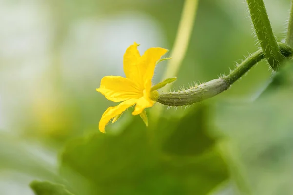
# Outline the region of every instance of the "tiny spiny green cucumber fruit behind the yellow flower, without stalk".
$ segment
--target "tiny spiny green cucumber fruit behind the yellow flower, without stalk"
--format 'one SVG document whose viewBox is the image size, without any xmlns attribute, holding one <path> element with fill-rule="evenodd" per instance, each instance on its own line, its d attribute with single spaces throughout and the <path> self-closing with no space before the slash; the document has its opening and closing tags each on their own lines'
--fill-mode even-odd
<svg viewBox="0 0 293 195">
<path fill-rule="evenodd" d="M 168 106 L 191 105 L 211 98 L 229 88 L 229 84 L 223 78 L 211 80 L 206 83 L 178 92 L 160 94 L 157 101 Z"/>
</svg>

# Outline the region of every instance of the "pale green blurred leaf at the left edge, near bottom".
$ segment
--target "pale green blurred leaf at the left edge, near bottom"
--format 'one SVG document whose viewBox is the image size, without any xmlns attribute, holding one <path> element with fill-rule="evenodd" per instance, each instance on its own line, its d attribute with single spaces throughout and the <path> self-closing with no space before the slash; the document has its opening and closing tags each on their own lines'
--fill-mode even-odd
<svg viewBox="0 0 293 195">
<path fill-rule="evenodd" d="M 49 151 L 40 145 L 29 144 L 24 139 L 0 134 L 0 171 L 16 170 L 42 179 L 61 180 L 56 167 L 48 159 L 54 161 Z"/>
</svg>

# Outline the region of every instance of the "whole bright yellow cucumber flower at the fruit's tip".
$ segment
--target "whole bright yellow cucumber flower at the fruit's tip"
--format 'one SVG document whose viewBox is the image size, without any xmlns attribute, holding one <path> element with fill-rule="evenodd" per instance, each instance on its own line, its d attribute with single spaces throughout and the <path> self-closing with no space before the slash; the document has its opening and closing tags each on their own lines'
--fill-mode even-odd
<svg viewBox="0 0 293 195">
<path fill-rule="evenodd" d="M 126 78 L 120 76 L 103 77 L 100 88 L 96 89 L 108 100 L 121 102 L 118 106 L 109 107 L 104 112 L 99 122 L 101 132 L 105 132 L 105 126 L 111 119 L 114 118 L 113 122 L 115 122 L 127 108 L 133 105 L 135 105 L 135 109 L 132 114 L 140 114 L 147 125 L 144 109 L 154 105 L 158 94 L 157 91 L 154 91 L 158 87 L 152 90 L 151 80 L 157 62 L 168 50 L 160 47 L 149 48 L 141 56 L 137 46 L 138 44 L 134 42 L 124 54 L 123 69 Z"/>
</svg>

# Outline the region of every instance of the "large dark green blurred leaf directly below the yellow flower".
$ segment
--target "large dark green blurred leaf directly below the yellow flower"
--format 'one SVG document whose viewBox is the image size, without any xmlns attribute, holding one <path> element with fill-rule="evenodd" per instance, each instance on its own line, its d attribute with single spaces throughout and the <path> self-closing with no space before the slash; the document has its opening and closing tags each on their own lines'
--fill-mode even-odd
<svg viewBox="0 0 293 195">
<path fill-rule="evenodd" d="M 199 109 L 187 119 L 203 112 Z M 151 134 L 168 130 L 147 129 L 139 117 L 133 117 L 133 122 L 119 135 L 96 133 L 73 140 L 61 155 L 61 174 L 75 182 L 68 174 L 73 171 L 92 183 L 95 187 L 92 194 L 104 195 L 205 195 L 227 179 L 225 162 L 217 149 L 210 147 L 214 143 L 212 139 L 204 137 L 200 150 L 205 148 L 205 152 L 196 149 L 201 147 L 200 143 L 191 145 L 197 150 L 193 156 L 162 154 L 162 147 L 152 139 L 156 135 Z"/>
</svg>

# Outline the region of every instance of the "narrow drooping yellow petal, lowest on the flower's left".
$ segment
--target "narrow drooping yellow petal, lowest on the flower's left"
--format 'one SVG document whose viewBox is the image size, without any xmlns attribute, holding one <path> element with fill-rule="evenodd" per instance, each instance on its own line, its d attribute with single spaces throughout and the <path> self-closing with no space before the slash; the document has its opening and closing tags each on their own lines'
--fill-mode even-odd
<svg viewBox="0 0 293 195">
<path fill-rule="evenodd" d="M 120 115 L 123 111 L 125 111 L 130 106 L 133 106 L 136 103 L 137 99 L 129 99 L 120 103 L 118 106 L 109 107 L 102 115 L 101 120 L 99 122 L 99 130 L 105 133 L 105 126 L 108 122 L 117 115 Z"/>
</svg>

